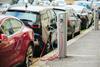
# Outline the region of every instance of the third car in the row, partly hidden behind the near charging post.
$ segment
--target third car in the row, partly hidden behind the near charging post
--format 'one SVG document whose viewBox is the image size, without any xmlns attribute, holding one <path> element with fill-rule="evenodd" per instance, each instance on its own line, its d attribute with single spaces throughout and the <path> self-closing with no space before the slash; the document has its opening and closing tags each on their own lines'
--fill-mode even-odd
<svg viewBox="0 0 100 67">
<path fill-rule="evenodd" d="M 67 36 L 68 38 L 73 38 L 75 34 L 80 34 L 80 22 L 81 20 L 75 16 L 75 11 L 72 8 L 67 8 L 67 6 L 55 6 L 54 11 L 57 14 L 57 18 L 60 13 L 66 12 L 68 15 L 67 21 Z"/>
</svg>

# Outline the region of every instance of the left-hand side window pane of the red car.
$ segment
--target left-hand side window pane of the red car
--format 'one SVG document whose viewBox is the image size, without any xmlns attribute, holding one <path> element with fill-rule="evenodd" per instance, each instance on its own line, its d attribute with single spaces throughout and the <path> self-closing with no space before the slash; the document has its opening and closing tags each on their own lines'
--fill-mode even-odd
<svg viewBox="0 0 100 67">
<path fill-rule="evenodd" d="M 5 20 L 4 23 L 1 25 L 1 28 L 7 36 L 14 33 L 10 19 Z"/>
</svg>

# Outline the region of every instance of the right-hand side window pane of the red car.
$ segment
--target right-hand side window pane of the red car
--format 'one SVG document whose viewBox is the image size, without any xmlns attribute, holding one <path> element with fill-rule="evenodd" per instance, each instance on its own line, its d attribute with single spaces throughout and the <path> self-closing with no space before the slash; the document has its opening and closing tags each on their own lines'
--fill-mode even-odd
<svg viewBox="0 0 100 67">
<path fill-rule="evenodd" d="M 17 19 L 11 19 L 11 24 L 14 32 L 19 31 L 22 27 L 22 23 Z"/>
</svg>

